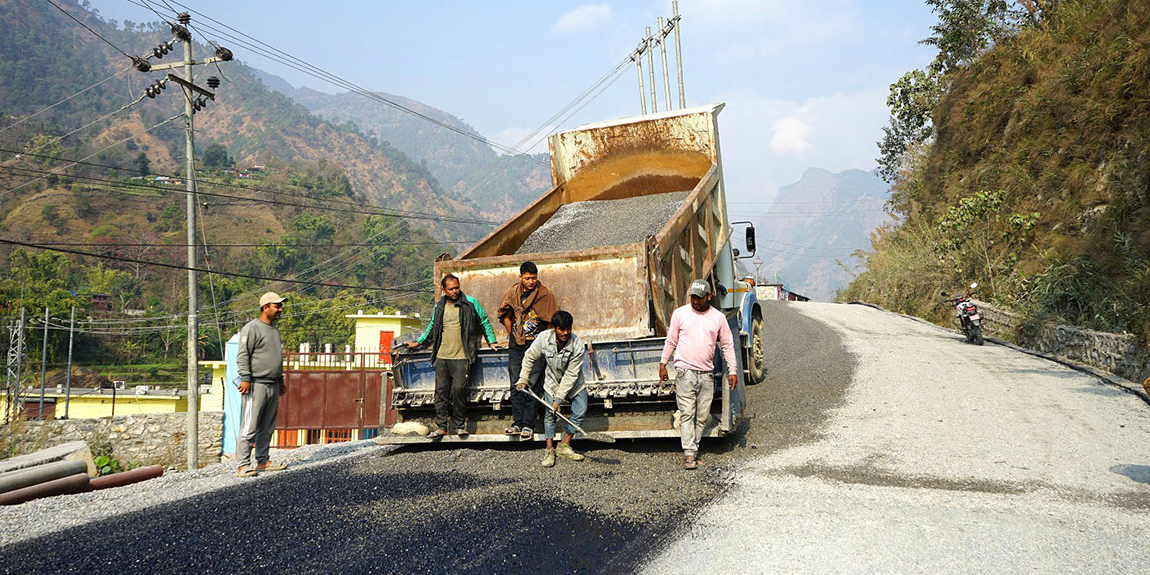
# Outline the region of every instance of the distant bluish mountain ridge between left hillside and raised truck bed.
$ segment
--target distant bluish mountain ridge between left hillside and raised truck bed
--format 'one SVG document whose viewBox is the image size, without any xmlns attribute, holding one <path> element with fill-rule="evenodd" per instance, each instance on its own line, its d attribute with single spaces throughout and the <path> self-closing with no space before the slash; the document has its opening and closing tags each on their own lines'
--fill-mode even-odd
<svg viewBox="0 0 1150 575">
<path fill-rule="evenodd" d="M 420 120 L 391 106 L 352 92 L 325 94 L 294 87 L 283 78 L 260 72 L 264 84 L 308 110 L 334 122 L 352 122 L 427 166 L 445 190 L 480 206 L 484 215 L 504 220 L 551 185 L 546 154 L 497 155 L 491 146 Z M 459 130 L 480 136 L 459 117 L 401 95 L 381 97 Z M 542 162 L 542 163 L 539 163 Z"/>
</svg>

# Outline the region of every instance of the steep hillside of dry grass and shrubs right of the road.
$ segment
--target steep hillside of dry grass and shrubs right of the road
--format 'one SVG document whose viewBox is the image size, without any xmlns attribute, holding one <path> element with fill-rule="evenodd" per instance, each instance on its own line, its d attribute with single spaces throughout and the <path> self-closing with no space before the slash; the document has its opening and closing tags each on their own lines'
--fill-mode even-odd
<svg viewBox="0 0 1150 575">
<path fill-rule="evenodd" d="M 1150 5 L 1042 5 L 958 60 L 903 159 L 867 271 L 844 298 L 938 317 L 937 293 L 1145 336 L 1150 327 Z M 894 124 L 894 121 L 892 121 Z"/>
</svg>

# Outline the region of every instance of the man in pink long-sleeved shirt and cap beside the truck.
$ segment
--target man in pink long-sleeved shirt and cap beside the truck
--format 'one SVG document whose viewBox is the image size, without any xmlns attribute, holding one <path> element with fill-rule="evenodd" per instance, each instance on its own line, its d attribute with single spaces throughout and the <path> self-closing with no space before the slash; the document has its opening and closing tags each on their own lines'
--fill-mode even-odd
<svg viewBox="0 0 1150 575">
<path fill-rule="evenodd" d="M 675 402 L 678 405 L 678 431 L 683 445 L 683 468 L 699 466 L 699 439 L 711 415 L 715 384 L 715 342 L 722 347 L 727 362 L 728 383 L 735 389 L 735 340 L 722 312 L 711 307 L 711 284 L 705 279 L 691 282 L 688 291 L 691 304 L 675 308 L 667 327 L 667 343 L 659 361 L 659 378 L 667 381 L 667 361 L 675 354 Z"/>
</svg>

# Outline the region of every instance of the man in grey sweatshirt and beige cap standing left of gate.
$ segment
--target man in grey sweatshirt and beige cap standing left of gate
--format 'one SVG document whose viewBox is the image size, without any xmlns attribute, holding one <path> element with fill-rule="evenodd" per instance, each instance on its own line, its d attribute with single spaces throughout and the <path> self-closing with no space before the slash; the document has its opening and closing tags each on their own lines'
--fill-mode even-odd
<svg viewBox="0 0 1150 575">
<path fill-rule="evenodd" d="M 279 412 L 279 394 L 284 389 L 284 346 L 276 321 L 283 313 L 284 300 L 268 292 L 260 298 L 260 317 L 239 330 L 239 431 L 236 434 L 236 475 L 251 477 L 258 471 L 278 471 L 288 466 L 268 459 L 271 432 Z M 252 467 L 252 450 L 255 467 Z"/>
</svg>

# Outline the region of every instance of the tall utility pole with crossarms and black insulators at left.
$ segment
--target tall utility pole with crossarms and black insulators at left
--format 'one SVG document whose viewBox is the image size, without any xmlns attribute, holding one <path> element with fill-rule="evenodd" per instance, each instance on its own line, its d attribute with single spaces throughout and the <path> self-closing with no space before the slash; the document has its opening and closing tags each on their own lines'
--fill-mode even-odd
<svg viewBox="0 0 1150 575">
<path fill-rule="evenodd" d="M 192 17 L 185 12 L 181 13 L 176 20 L 178 24 L 171 25 L 171 33 L 184 45 L 184 61 L 168 64 L 150 67 L 151 70 L 176 70 L 183 68 L 183 77 L 168 74 L 168 80 L 175 82 L 183 87 L 184 92 L 184 153 L 186 158 L 184 184 L 187 191 L 187 468 L 198 469 L 200 467 L 199 444 L 200 444 L 200 382 L 199 382 L 199 305 L 195 293 L 195 131 L 193 117 L 195 113 L 207 106 L 207 100 L 215 100 L 215 93 L 195 85 L 195 77 L 192 74 L 193 66 L 213 62 L 227 62 L 232 59 L 232 53 L 228 48 L 216 47 L 215 57 L 197 61 L 192 57 L 192 34 L 187 31 L 187 24 Z M 215 89 L 220 85 L 220 79 L 210 77 L 207 79 L 208 87 Z M 199 95 L 197 95 L 199 94 Z"/>
</svg>

